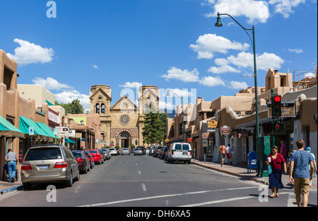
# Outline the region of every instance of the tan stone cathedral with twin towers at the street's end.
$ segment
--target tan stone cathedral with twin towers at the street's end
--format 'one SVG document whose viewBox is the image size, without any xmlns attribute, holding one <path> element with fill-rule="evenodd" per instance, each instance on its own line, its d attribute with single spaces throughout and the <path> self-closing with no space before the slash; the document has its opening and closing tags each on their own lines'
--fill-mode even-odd
<svg viewBox="0 0 318 221">
<path fill-rule="evenodd" d="M 100 115 L 100 143 L 110 146 L 130 147 L 143 145 L 143 117 L 150 103 L 159 108 L 157 86 L 140 86 L 137 94 L 139 106 L 122 96 L 111 106 L 112 89 L 108 85 L 93 85 L 90 89 L 90 113 Z M 135 98 L 136 99 L 136 98 Z"/>
</svg>

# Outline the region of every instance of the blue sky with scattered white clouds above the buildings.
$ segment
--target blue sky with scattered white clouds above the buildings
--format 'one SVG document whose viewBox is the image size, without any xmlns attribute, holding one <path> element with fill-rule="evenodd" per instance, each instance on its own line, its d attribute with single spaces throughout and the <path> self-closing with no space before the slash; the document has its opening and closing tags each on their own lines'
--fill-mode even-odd
<svg viewBox="0 0 318 221">
<path fill-rule="evenodd" d="M 155 85 L 167 108 L 180 103 L 167 89 L 195 103 L 254 86 L 245 77 L 254 74 L 252 42 L 227 16 L 215 27 L 218 11 L 254 25 L 258 86 L 270 68 L 302 72 L 317 62 L 316 0 L 56 0 L 56 18 L 47 2 L 1 1 L 0 49 L 17 60 L 18 84 L 42 84 L 84 108 L 95 84 L 110 85 L 112 104 Z"/>
</svg>

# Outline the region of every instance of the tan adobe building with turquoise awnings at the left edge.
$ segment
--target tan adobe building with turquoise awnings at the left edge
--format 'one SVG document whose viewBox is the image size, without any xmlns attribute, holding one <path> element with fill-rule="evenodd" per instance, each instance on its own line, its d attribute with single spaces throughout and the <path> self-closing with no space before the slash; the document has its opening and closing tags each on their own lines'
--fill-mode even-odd
<svg viewBox="0 0 318 221">
<path fill-rule="evenodd" d="M 53 141 L 48 125 L 48 105 L 35 109 L 33 98 L 19 95 L 17 87 L 17 63 L 0 49 L 0 171 L 8 149 L 17 155 L 25 154 L 31 147 L 29 127 L 34 128 L 33 145 Z M 52 132 L 52 131 L 51 131 Z M 53 133 L 53 132 L 52 132 Z M 0 175 L 0 176 L 1 176 Z"/>
</svg>

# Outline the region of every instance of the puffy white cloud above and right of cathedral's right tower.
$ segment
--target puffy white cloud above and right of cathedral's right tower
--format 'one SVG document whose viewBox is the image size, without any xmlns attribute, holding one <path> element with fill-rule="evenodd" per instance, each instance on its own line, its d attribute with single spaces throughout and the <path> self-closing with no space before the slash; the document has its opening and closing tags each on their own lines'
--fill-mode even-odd
<svg viewBox="0 0 318 221">
<path fill-rule="evenodd" d="M 167 81 L 169 79 L 177 79 L 184 82 L 196 82 L 199 80 L 199 72 L 195 68 L 191 72 L 187 69 L 178 69 L 176 67 L 171 67 L 167 74 L 162 74 L 160 77 L 165 78 Z"/>
</svg>

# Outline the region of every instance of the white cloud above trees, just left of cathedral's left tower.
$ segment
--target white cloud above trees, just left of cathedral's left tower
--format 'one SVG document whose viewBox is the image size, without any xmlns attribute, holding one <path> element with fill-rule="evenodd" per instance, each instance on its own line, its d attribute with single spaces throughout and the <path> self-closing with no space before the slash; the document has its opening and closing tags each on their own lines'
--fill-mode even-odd
<svg viewBox="0 0 318 221">
<path fill-rule="evenodd" d="M 55 100 L 59 103 L 71 103 L 78 99 L 86 111 L 90 111 L 90 98 L 86 94 L 80 94 L 78 91 L 63 91 L 59 94 L 54 94 Z"/>
</svg>

